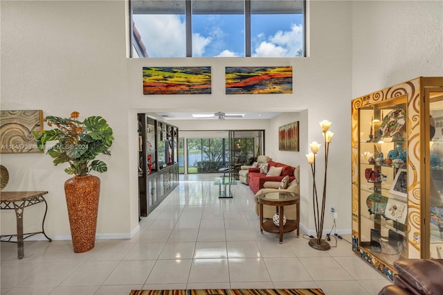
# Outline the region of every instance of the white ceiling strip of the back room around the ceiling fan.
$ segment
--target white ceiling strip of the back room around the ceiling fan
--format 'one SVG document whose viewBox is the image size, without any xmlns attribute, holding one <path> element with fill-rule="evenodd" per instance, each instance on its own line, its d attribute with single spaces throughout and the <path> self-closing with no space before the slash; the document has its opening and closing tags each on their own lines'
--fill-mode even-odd
<svg viewBox="0 0 443 295">
<path fill-rule="evenodd" d="M 221 110 L 222 111 L 222 110 Z M 217 117 L 212 118 L 194 118 L 192 117 L 192 114 L 208 114 L 213 115 L 217 111 L 195 111 L 195 112 L 175 112 L 175 111 L 161 111 L 157 112 L 156 114 L 159 116 L 162 116 L 165 119 L 168 120 L 217 120 Z M 281 114 L 281 112 L 270 112 L 270 111 L 263 111 L 263 112 L 244 112 L 244 111 L 226 111 L 226 115 L 228 114 L 244 114 L 243 118 L 225 118 L 225 120 L 266 120 L 271 119 L 275 116 L 278 116 Z"/>
</svg>

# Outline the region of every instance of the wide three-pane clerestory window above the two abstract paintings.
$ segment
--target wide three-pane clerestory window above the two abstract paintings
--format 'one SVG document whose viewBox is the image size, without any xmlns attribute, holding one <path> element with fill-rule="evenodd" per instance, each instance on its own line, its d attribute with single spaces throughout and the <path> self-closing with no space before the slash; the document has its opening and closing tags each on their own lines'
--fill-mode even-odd
<svg viewBox="0 0 443 295">
<path fill-rule="evenodd" d="M 132 0 L 132 57 L 303 57 L 304 0 Z"/>
</svg>

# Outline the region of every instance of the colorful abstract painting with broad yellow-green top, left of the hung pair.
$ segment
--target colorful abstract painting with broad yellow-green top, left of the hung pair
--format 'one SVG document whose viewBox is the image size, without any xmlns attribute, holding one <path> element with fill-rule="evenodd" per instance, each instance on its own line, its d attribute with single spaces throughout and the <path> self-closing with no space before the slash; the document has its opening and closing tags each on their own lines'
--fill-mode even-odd
<svg viewBox="0 0 443 295">
<path fill-rule="evenodd" d="M 143 67 L 143 94 L 210 94 L 210 66 Z"/>
</svg>

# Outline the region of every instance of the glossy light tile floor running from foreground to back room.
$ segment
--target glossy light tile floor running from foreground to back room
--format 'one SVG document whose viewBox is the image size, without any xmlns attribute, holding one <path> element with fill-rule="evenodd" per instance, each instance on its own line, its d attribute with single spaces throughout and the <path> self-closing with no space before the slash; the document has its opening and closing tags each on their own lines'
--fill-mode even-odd
<svg viewBox="0 0 443 295">
<path fill-rule="evenodd" d="M 1 294 L 320 287 L 356 295 L 390 284 L 352 252 L 349 236 L 318 251 L 295 232 L 284 234 L 283 244 L 260 233 L 248 186 L 239 183 L 233 199 L 219 199 L 215 176 L 181 175 L 130 240 L 97 240 L 86 253 L 73 253 L 71 241 L 27 241 L 21 260 L 16 244 L 1 243 Z"/>
</svg>

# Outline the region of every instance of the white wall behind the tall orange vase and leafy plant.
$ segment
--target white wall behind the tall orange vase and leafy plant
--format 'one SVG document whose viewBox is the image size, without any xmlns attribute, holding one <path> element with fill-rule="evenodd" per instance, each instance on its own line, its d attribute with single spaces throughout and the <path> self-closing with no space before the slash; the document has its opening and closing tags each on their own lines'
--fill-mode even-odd
<svg viewBox="0 0 443 295">
<path fill-rule="evenodd" d="M 97 233 L 125 237 L 129 224 L 129 154 L 127 59 L 123 1 L 1 1 L 1 109 L 42 109 L 44 116 L 80 118 L 100 115 L 109 121 L 116 140 L 111 157 L 101 159 L 109 172 L 100 174 Z M 47 126 L 45 126 L 47 128 Z M 134 129 L 136 125 L 134 126 Z M 134 148 L 132 149 L 134 150 Z M 64 199 L 66 164 L 53 166 L 44 154 L 1 154 L 10 172 L 5 190 L 48 190 L 46 232 L 70 238 Z M 26 208 L 25 230 L 36 231 L 34 215 L 43 204 Z M 1 233 L 15 233 L 15 216 L 1 212 Z"/>
</svg>

